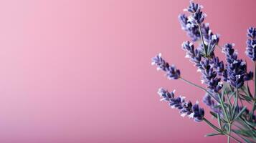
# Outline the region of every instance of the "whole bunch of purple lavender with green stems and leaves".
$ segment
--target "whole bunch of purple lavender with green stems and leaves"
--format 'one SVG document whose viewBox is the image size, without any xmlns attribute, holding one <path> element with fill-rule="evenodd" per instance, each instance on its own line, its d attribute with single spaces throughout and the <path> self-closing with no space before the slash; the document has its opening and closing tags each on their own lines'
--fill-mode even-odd
<svg viewBox="0 0 256 143">
<path fill-rule="evenodd" d="M 219 35 L 212 33 L 209 24 L 204 23 L 206 14 L 202 12 L 202 6 L 190 2 L 184 9 L 186 14 L 179 15 L 181 28 L 186 31 L 191 41 L 184 41 L 181 48 L 186 51 L 186 58 L 197 67 L 202 74 L 202 84 L 196 85 L 181 76 L 176 66 L 166 62 L 161 54 L 152 58 L 152 64 L 157 70 L 166 72 L 169 79 L 180 79 L 205 92 L 203 102 L 206 104 L 218 126 L 215 126 L 204 117 L 204 109 L 199 103 L 186 102 L 184 97 L 175 97 L 174 92 L 167 89 L 158 89 L 161 101 L 169 103 L 171 108 L 179 109 L 181 117 L 189 117 L 195 122 L 206 122 L 214 133 L 209 136 L 225 135 L 227 142 L 234 139 L 236 142 L 256 142 L 256 80 L 255 72 L 247 71 L 247 63 L 237 56 L 234 44 L 219 46 Z M 199 41 L 196 46 L 194 42 Z M 256 29 L 250 27 L 247 30 L 247 48 L 245 54 L 253 61 L 256 71 Z M 219 49 L 224 53 L 226 61 L 221 61 L 214 54 Z M 254 77 L 254 80 L 253 80 Z M 248 82 L 254 81 L 254 94 L 250 92 Z M 244 106 L 252 105 L 251 108 Z"/>
</svg>

